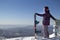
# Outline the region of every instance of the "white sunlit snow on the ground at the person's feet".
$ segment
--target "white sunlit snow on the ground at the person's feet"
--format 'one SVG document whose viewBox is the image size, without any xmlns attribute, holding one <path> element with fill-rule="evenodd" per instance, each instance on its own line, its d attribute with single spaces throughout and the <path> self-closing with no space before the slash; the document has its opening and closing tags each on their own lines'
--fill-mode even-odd
<svg viewBox="0 0 60 40">
<path fill-rule="evenodd" d="M 55 37 L 55 34 L 53 33 L 53 34 L 49 35 L 49 39 L 47 39 L 47 38 L 43 39 L 42 36 L 35 39 L 34 36 L 31 36 L 31 37 L 9 38 L 9 39 L 5 39 L 5 40 L 60 40 L 60 37 Z"/>
</svg>

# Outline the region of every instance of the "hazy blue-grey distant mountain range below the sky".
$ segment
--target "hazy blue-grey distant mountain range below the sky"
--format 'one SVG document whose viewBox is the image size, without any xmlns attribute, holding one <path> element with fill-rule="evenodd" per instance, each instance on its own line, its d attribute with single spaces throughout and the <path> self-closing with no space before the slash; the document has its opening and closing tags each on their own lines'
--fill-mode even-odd
<svg viewBox="0 0 60 40">
<path fill-rule="evenodd" d="M 0 25 L 3 27 L 4 25 Z M 9 28 L 5 28 L 5 27 Z M 5 29 L 4 29 L 5 28 Z M 34 26 L 27 25 L 27 26 L 20 26 L 20 25 L 5 25 L 3 29 L 0 29 L 0 36 L 6 38 L 13 38 L 13 37 L 24 37 L 24 36 L 34 36 Z M 40 36 L 42 36 L 42 26 L 37 26 L 37 30 L 40 30 Z M 49 26 L 49 33 L 53 33 L 53 26 Z"/>
</svg>

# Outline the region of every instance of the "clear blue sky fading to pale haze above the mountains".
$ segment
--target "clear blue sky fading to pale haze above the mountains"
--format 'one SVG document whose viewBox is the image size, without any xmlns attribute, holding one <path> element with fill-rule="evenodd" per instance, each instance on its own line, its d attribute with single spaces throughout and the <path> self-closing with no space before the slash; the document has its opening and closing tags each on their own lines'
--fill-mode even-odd
<svg viewBox="0 0 60 40">
<path fill-rule="evenodd" d="M 0 24 L 33 25 L 34 13 L 44 13 L 44 6 L 60 19 L 60 0 L 0 0 Z"/>
</svg>

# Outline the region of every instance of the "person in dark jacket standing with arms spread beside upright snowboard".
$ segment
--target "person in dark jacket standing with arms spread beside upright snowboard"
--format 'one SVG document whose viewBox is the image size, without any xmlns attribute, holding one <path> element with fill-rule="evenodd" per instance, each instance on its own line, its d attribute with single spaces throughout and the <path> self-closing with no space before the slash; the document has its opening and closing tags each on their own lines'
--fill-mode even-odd
<svg viewBox="0 0 60 40">
<path fill-rule="evenodd" d="M 35 15 L 43 17 L 43 30 L 45 35 L 44 37 L 49 38 L 48 26 L 50 25 L 50 18 L 52 18 L 53 20 L 56 20 L 56 19 L 50 14 L 48 6 L 44 7 L 44 11 L 45 11 L 44 14 L 35 13 Z"/>
</svg>

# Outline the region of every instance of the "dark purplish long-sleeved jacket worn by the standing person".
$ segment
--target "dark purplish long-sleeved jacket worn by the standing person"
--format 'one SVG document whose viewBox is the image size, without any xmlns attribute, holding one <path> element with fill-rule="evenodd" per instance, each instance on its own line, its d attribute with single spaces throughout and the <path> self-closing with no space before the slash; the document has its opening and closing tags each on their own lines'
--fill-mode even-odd
<svg viewBox="0 0 60 40">
<path fill-rule="evenodd" d="M 50 13 L 37 14 L 37 15 L 43 17 L 43 25 L 50 25 L 50 18 L 52 18 L 53 20 L 56 20 Z"/>
</svg>

